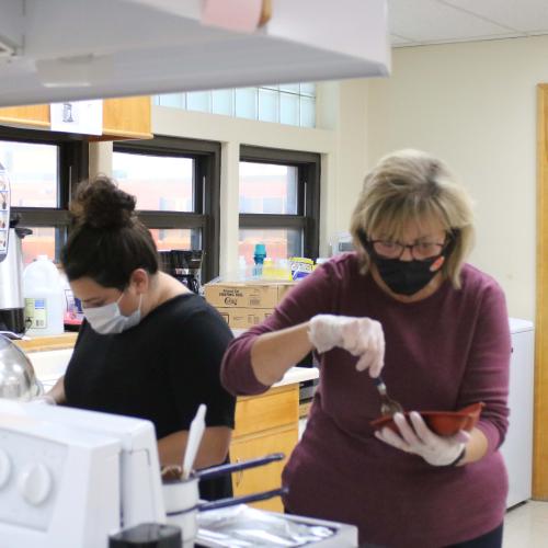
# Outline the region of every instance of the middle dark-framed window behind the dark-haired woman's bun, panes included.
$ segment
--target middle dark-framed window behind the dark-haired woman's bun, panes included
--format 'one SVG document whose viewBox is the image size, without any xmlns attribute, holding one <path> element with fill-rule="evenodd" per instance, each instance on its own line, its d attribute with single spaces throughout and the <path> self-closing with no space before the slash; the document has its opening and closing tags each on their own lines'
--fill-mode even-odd
<svg viewBox="0 0 548 548">
<path fill-rule="evenodd" d="M 155 137 L 115 142 L 113 176 L 137 199 L 159 250 L 202 249 L 202 281 L 219 272 L 220 146 Z"/>
</svg>

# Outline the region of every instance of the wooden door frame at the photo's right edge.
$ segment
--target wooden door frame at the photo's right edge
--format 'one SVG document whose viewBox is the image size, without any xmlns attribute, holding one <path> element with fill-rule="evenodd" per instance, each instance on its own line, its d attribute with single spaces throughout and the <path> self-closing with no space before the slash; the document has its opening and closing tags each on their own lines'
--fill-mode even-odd
<svg viewBox="0 0 548 548">
<path fill-rule="evenodd" d="M 533 498 L 548 500 L 548 84 L 537 85 L 537 266 Z"/>
</svg>

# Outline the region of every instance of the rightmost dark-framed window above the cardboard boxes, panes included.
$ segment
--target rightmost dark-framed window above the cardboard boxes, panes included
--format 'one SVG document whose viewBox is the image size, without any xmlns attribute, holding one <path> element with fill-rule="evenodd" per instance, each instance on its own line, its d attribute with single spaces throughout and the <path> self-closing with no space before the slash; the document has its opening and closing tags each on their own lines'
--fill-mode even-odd
<svg viewBox="0 0 548 548">
<path fill-rule="evenodd" d="M 238 252 L 253 264 L 256 243 L 273 260 L 318 256 L 320 156 L 243 146 Z"/>
</svg>

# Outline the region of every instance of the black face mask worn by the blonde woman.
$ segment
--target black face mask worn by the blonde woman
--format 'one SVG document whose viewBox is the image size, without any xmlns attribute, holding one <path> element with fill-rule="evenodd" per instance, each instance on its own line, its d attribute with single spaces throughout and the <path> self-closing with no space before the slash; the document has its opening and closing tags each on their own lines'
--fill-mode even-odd
<svg viewBox="0 0 548 548">
<path fill-rule="evenodd" d="M 455 239 L 449 240 L 442 254 L 424 261 L 400 261 L 399 259 L 386 259 L 378 255 L 364 232 L 359 233 L 359 240 L 369 253 L 373 263 L 383 282 L 397 295 L 414 295 L 426 287 L 432 278 L 439 272 L 439 269 L 432 272 L 431 266 L 439 259 L 447 258 L 452 252 Z"/>
</svg>

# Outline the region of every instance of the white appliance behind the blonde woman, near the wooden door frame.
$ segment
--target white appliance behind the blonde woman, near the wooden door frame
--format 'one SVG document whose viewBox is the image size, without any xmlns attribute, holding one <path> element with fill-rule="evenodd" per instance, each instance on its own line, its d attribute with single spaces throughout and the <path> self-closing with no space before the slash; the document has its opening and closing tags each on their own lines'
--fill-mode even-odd
<svg viewBox="0 0 548 548">
<path fill-rule="evenodd" d="M 501 453 L 509 472 L 506 507 L 532 496 L 535 330 L 530 321 L 510 318 L 510 425 Z"/>
</svg>

